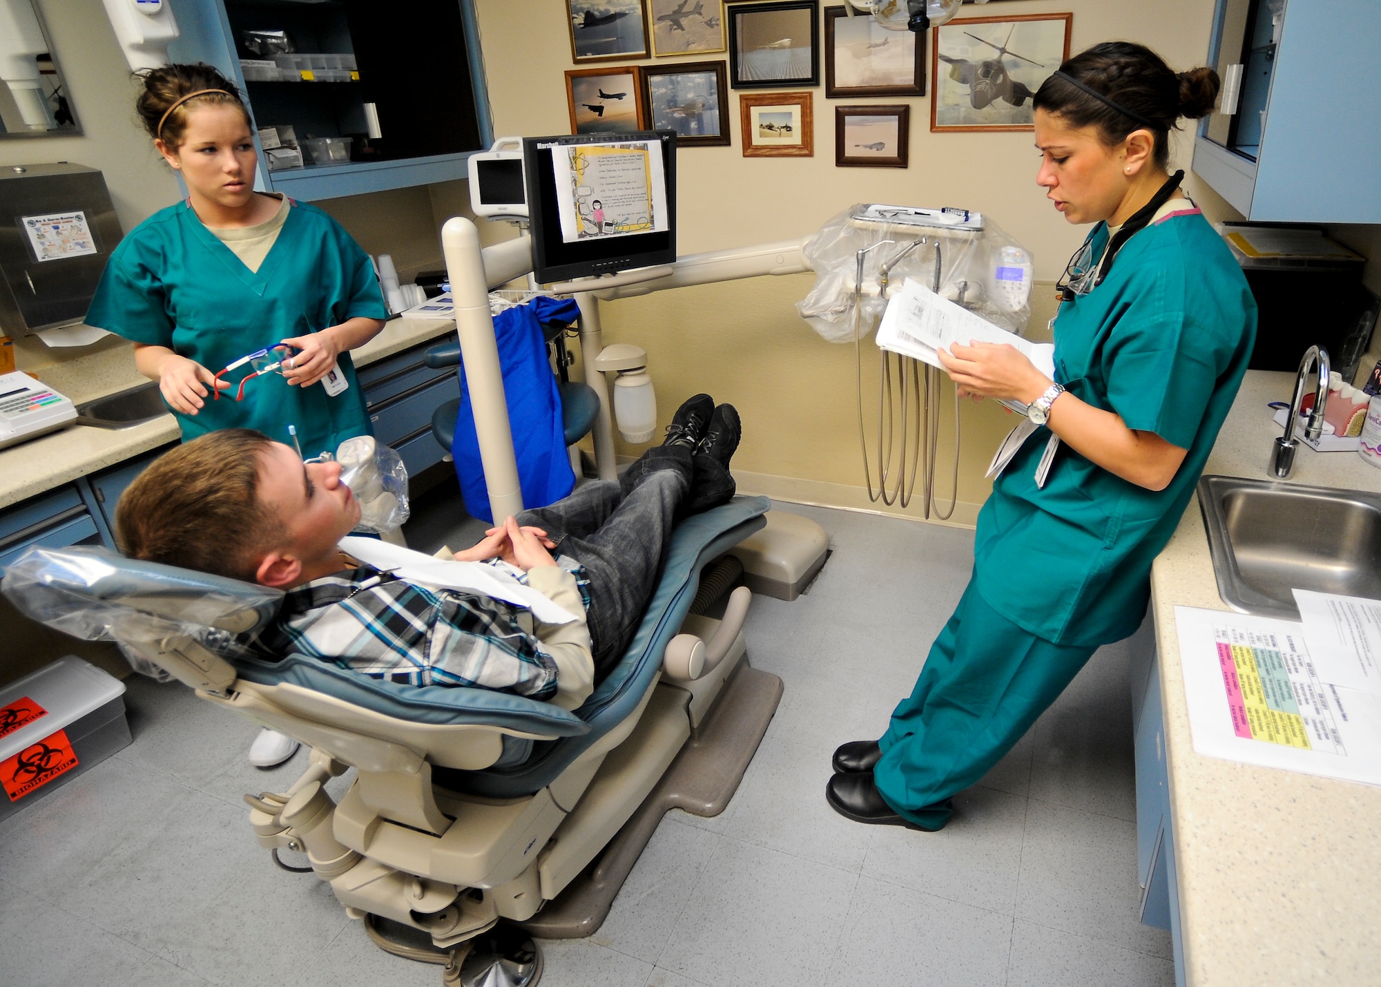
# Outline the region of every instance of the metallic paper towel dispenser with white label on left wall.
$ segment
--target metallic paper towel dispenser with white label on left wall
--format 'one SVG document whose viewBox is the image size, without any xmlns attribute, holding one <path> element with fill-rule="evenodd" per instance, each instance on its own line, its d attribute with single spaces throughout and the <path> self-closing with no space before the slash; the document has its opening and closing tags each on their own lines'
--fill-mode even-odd
<svg viewBox="0 0 1381 987">
<path fill-rule="evenodd" d="M 123 235 L 98 170 L 0 167 L 0 335 L 28 336 L 86 318 Z"/>
</svg>

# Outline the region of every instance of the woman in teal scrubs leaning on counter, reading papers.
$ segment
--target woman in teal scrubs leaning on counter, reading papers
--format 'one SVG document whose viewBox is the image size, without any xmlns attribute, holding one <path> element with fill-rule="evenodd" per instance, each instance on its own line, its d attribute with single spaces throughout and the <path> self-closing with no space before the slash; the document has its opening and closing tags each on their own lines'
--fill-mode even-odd
<svg viewBox="0 0 1381 987">
<path fill-rule="evenodd" d="M 1170 130 L 1217 93 L 1211 69 L 1108 43 L 1036 94 L 1037 184 L 1095 224 L 1062 285 L 1055 380 L 1010 346 L 940 354 L 961 394 L 1021 401 L 1036 427 L 979 513 L 972 578 L 911 695 L 878 741 L 836 751 L 826 798 L 848 818 L 939 829 L 952 796 L 1141 623 L 1255 339 L 1240 268 L 1167 169 Z"/>
</svg>

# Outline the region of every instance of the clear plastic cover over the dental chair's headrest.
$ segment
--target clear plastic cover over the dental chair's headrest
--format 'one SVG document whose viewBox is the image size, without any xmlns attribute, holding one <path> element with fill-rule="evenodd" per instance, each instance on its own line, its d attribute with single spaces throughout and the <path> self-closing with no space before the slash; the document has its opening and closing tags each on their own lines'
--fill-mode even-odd
<svg viewBox="0 0 1381 987">
<path fill-rule="evenodd" d="M 131 570 L 171 579 L 177 590 L 131 594 Z M 213 654 L 249 654 L 243 636 L 273 619 L 283 601 L 278 589 L 84 546 L 29 549 L 6 567 L 0 592 L 39 623 L 88 641 L 116 641 L 135 672 L 159 682 L 171 676 L 130 644 L 191 637 Z"/>
</svg>

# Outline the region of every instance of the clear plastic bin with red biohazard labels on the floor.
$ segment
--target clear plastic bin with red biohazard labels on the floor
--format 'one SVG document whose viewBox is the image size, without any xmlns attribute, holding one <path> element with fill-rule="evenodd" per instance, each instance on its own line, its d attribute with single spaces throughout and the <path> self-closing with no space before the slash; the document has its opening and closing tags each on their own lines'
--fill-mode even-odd
<svg viewBox="0 0 1381 987">
<path fill-rule="evenodd" d="M 80 658 L 0 688 L 0 820 L 128 742 L 124 683 Z"/>
</svg>

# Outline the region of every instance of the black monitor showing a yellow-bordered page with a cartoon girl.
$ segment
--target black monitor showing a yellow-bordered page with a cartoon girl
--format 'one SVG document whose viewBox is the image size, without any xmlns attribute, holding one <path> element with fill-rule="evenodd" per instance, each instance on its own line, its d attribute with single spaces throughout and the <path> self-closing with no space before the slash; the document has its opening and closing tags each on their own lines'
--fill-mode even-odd
<svg viewBox="0 0 1381 987">
<path fill-rule="evenodd" d="M 673 131 L 529 137 L 523 178 L 539 282 L 677 258 Z"/>
</svg>

